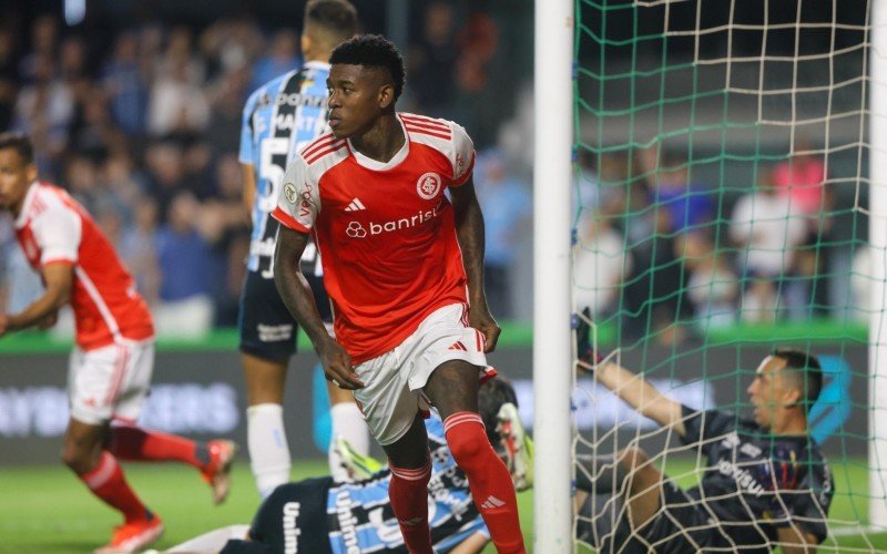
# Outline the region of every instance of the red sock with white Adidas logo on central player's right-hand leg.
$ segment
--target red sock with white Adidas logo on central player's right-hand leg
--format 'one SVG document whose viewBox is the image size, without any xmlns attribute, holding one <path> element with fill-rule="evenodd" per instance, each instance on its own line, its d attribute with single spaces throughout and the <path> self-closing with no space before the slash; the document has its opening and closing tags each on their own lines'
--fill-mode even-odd
<svg viewBox="0 0 887 554">
<path fill-rule="evenodd" d="M 452 458 L 468 476 L 468 486 L 500 553 L 523 553 L 518 501 L 506 464 L 496 454 L 475 412 L 456 412 L 443 422 Z"/>
</svg>

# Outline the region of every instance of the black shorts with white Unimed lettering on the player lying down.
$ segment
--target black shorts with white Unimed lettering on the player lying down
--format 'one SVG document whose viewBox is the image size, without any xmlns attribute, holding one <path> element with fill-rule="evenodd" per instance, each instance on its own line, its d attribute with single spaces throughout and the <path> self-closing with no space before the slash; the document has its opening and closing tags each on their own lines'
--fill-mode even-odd
<svg viewBox="0 0 887 554">
<path fill-rule="evenodd" d="M 295 552 L 333 554 L 326 514 L 332 485 L 332 478 L 315 478 L 278 486 L 258 507 L 249 536 L 271 552 L 295 541 Z"/>
</svg>

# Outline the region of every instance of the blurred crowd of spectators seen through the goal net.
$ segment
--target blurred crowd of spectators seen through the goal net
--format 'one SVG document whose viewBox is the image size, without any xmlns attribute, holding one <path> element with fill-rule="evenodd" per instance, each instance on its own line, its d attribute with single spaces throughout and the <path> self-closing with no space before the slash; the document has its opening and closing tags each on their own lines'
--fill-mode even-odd
<svg viewBox="0 0 887 554">
<path fill-rule="evenodd" d="M 594 320 L 674 343 L 832 314 L 827 281 L 850 267 L 833 259 L 834 192 L 806 138 L 784 161 L 755 165 L 756 182 L 735 194 L 700 181 L 683 152 L 580 154 L 573 283 Z M 847 246 L 865 280 L 867 249 Z M 865 284 L 852 285 L 865 306 Z"/>
</svg>

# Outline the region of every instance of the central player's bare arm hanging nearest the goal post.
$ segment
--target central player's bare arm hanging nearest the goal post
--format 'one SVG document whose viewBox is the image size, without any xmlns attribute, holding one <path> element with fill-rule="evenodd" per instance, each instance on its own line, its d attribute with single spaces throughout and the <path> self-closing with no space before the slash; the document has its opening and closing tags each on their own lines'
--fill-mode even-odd
<svg viewBox="0 0 887 554">
<path fill-rule="evenodd" d="M 501 329 L 490 314 L 483 291 L 483 213 L 475 194 L 473 179 L 469 177 L 465 184 L 450 187 L 450 197 L 456 216 L 456 237 L 468 277 L 468 318 L 471 327 L 483 334 L 483 351 L 491 352 Z"/>
</svg>

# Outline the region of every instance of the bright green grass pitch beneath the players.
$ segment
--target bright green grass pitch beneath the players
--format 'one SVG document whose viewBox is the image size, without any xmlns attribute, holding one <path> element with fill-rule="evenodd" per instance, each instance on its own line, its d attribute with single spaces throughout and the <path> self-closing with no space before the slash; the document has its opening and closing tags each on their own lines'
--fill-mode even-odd
<svg viewBox="0 0 887 554">
<path fill-rule="evenodd" d="M 176 464 L 124 465 L 126 476 L 145 503 L 159 513 L 166 533 L 155 544 L 170 547 L 206 531 L 248 523 L 258 497 L 248 464 L 239 461 L 228 501 L 213 506 L 210 490 L 196 471 Z M 670 461 L 674 475 L 691 473 L 683 461 Z M 830 516 L 838 521 L 867 517 L 867 473 L 861 462 L 833 465 L 837 492 Z M 293 476 L 322 475 L 325 462 L 298 462 Z M 692 476 L 681 479 L 684 484 Z M 532 493 L 518 497 L 527 544 L 532 544 Z M 93 499 L 70 472 L 59 465 L 0 468 L 0 553 L 86 553 L 104 544 L 118 515 Z M 887 550 L 887 534 L 842 536 L 823 551 Z M 495 552 L 488 547 L 485 553 Z"/>
</svg>

